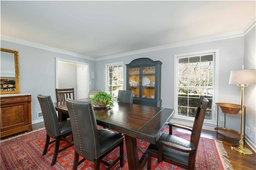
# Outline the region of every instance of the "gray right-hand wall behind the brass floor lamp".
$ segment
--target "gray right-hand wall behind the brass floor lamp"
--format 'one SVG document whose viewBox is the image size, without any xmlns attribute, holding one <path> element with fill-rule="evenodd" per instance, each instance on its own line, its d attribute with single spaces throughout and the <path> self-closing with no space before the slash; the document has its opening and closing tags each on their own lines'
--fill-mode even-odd
<svg viewBox="0 0 256 170">
<path fill-rule="evenodd" d="M 255 54 L 255 26 L 244 37 L 244 69 L 256 69 L 256 54 Z M 236 92 L 237 95 L 240 91 Z M 256 85 L 249 85 L 244 88 L 244 105 L 246 106 L 246 126 L 251 129 L 251 132 L 255 131 L 256 127 Z M 256 131 L 255 131 L 256 133 Z M 251 141 L 256 144 L 256 134 L 251 134 Z"/>
</svg>

